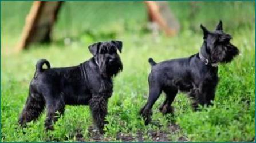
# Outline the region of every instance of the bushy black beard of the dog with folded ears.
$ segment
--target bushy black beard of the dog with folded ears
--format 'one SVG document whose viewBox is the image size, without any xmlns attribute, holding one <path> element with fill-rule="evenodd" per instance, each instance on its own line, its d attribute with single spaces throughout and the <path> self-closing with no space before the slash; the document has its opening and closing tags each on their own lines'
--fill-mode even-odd
<svg viewBox="0 0 256 143">
<path fill-rule="evenodd" d="M 116 60 L 113 63 L 101 62 L 99 63 L 100 73 L 104 77 L 115 77 L 121 70 L 123 70 L 123 65 L 120 60 Z"/>
</svg>

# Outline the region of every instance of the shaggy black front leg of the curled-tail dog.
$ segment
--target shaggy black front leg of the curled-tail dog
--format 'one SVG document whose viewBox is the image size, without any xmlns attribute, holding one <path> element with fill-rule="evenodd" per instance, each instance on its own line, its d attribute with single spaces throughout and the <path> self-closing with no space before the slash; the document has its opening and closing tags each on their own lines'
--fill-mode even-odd
<svg viewBox="0 0 256 143">
<path fill-rule="evenodd" d="M 90 110 L 94 122 L 100 130 L 100 133 L 103 133 L 105 116 L 107 115 L 107 99 L 104 96 L 94 95 L 89 101 Z"/>
</svg>

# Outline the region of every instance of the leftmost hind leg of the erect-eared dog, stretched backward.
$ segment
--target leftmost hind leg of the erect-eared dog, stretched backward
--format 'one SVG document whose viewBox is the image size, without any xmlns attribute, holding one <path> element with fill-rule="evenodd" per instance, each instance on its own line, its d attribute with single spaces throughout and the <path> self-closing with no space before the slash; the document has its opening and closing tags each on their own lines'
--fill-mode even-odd
<svg viewBox="0 0 256 143">
<path fill-rule="evenodd" d="M 151 121 L 152 115 L 152 106 L 155 104 L 156 100 L 159 98 L 162 89 L 159 85 L 152 85 L 149 89 L 149 97 L 147 104 L 140 110 L 141 116 L 143 116 L 145 120 L 145 125 L 147 125 Z"/>
</svg>

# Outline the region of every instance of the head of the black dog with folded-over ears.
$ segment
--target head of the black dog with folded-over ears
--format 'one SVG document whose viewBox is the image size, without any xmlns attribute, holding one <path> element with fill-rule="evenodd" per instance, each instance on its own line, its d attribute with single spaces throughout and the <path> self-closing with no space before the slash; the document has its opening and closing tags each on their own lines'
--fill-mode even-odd
<svg viewBox="0 0 256 143">
<path fill-rule="evenodd" d="M 89 46 L 89 51 L 92 53 L 103 76 L 113 77 L 123 70 L 117 50 L 121 53 L 121 41 L 98 42 Z"/>
</svg>

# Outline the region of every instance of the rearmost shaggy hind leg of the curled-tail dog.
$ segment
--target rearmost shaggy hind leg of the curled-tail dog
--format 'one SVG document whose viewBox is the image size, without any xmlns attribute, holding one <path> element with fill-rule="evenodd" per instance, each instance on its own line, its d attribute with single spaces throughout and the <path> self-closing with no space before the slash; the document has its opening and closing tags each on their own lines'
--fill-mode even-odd
<svg viewBox="0 0 256 143">
<path fill-rule="evenodd" d="M 25 126 L 27 122 L 37 120 L 45 107 L 44 98 L 37 93 L 29 91 L 29 97 L 27 98 L 25 107 L 19 117 L 19 124 Z"/>
</svg>

